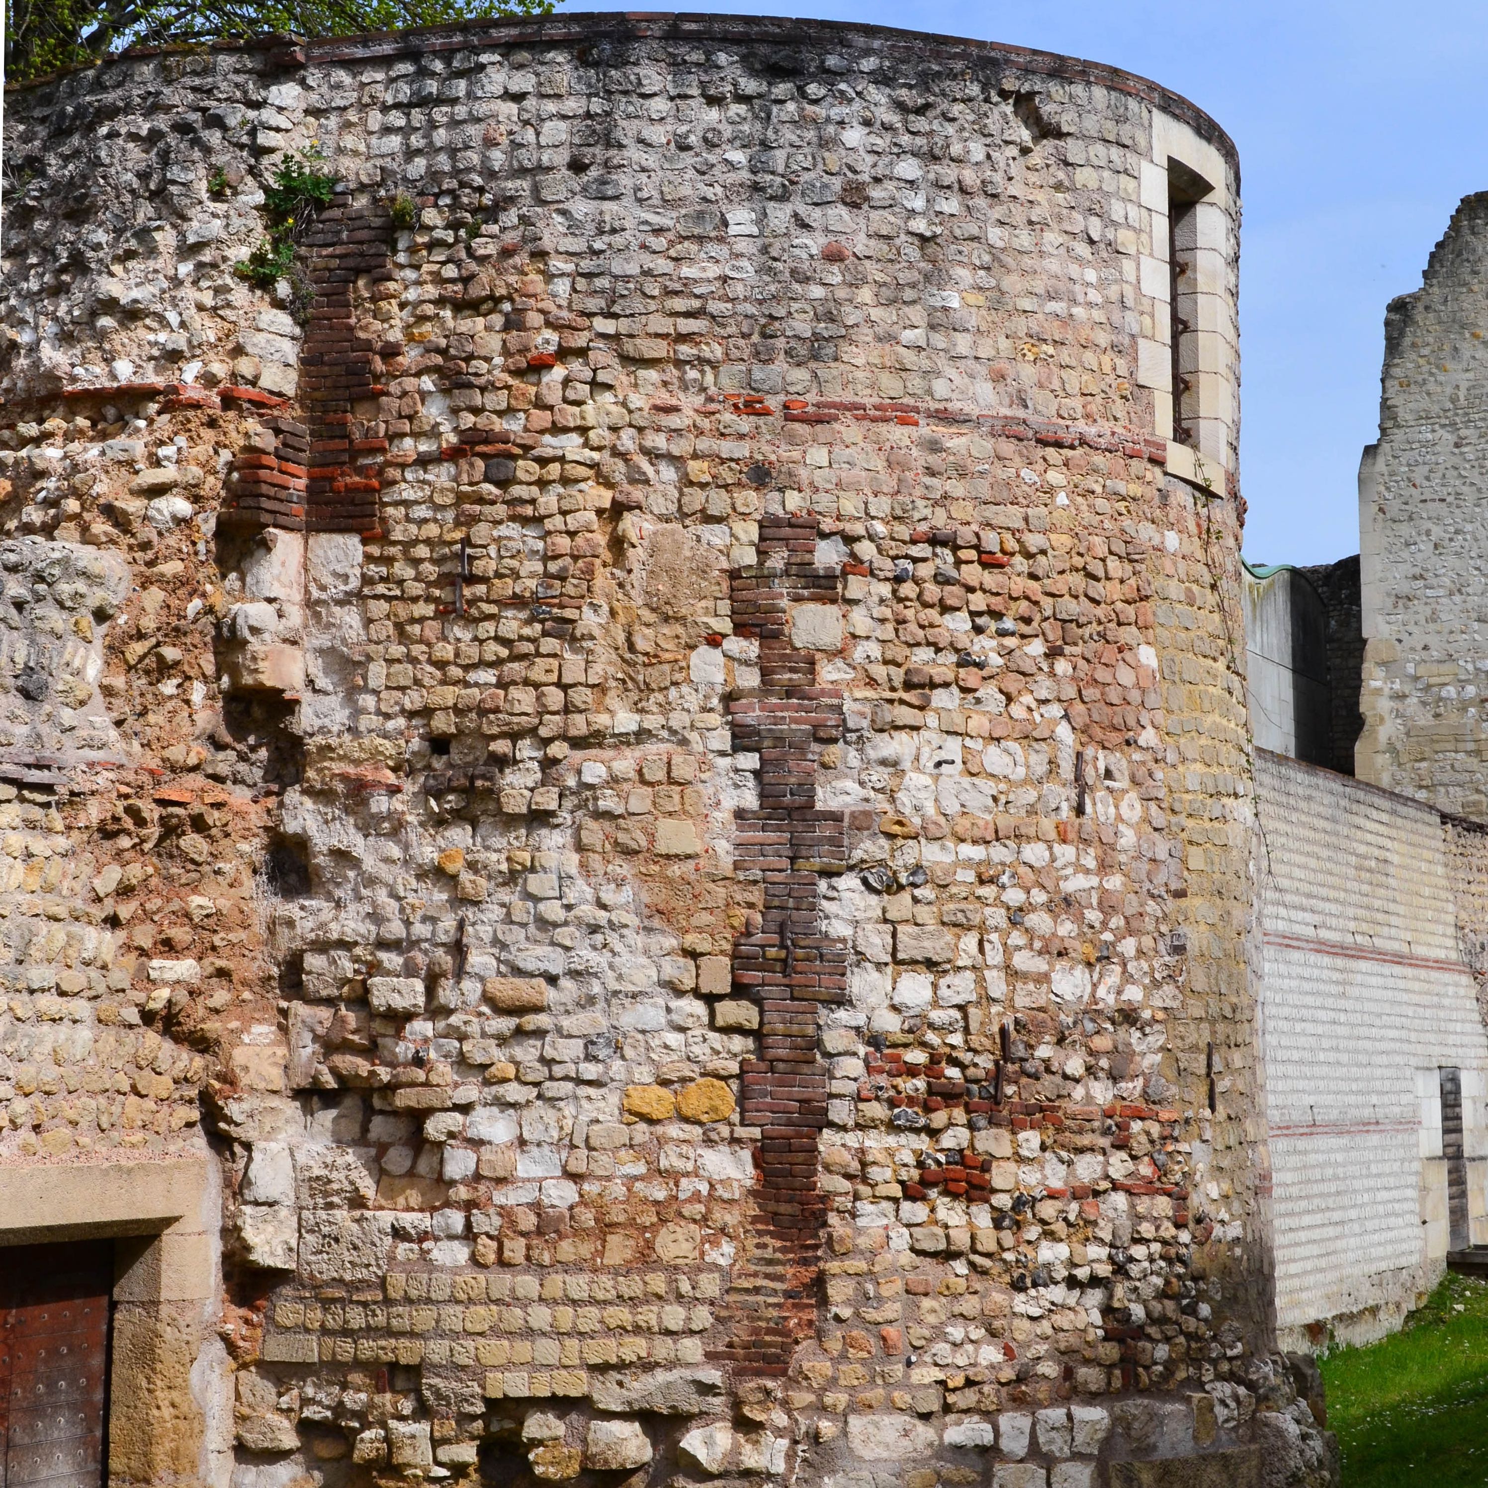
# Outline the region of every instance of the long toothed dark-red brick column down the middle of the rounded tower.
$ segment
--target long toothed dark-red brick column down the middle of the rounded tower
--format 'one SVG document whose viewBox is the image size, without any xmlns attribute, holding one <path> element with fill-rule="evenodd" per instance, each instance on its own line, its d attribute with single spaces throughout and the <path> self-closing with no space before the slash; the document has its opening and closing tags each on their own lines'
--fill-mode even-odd
<svg viewBox="0 0 1488 1488">
<path fill-rule="evenodd" d="M 821 933 L 818 908 L 818 876 L 847 868 L 847 818 L 815 805 L 817 760 L 842 737 L 842 695 L 817 686 L 815 655 L 790 640 L 792 604 L 838 604 L 815 546 L 814 516 L 766 518 L 759 562 L 732 574 L 734 632 L 759 638 L 760 686 L 729 711 L 735 753 L 759 756 L 759 806 L 734 814 L 734 862 L 759 876 L 763 906 L 735 942 L 734 988 L 760 1007 L 759 1058 L 743 1065 L 743 1116 L 760 1144 L 756 1234 L 716 1357 L 748 1373 L 784 1373 L 815 1324 L 817 1134 L 827 1125 L 817 1018 L 823 1003 L 847 1000 L 848 942 Z"/>
</svg>

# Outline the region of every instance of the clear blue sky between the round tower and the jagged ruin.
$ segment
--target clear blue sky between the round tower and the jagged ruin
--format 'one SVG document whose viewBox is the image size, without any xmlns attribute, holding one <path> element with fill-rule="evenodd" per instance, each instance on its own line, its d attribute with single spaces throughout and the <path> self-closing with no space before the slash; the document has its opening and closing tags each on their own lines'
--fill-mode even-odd
<svg viewBox="0 0 1488 1488">
<path fill-rule="evenodd" d="M 1245 555 L 1326 562 L 1359 551 L 1354 476 L 1378 429 L 1385 304 L 1420 286 L 1461 196 L 1488 190 L 1482 0 L 687 9 L 1015 42 L 1112 62 L 1193 100 L 1229 131 L 1242 173 Z"/>
</svg>

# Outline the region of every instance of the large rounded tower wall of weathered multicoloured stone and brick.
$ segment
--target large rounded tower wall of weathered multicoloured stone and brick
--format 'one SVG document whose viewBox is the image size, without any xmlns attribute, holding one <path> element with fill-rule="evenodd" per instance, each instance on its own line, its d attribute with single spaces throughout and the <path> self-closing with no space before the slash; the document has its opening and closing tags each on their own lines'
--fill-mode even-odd
<svg viewBox="0 0 1488 1488">
<path fill-rule="evenodd" d="M 132 580 L 119 763 L 16 787 L 88 995 L 62 940 L 16 978 L 128 1030 L 121 1141 L 220 1155 L 237 1488 L 1326 1481 L 1237 504 L 1134 376 L 1156 121 L 1234 204 L 1223 135 L 1061 58 L 622 16 L 6 118 L 7 530 Z M 16 1091 L 28 1159 L 112 1140 Z"/>
</svg>

